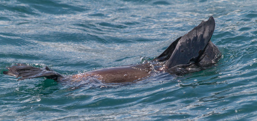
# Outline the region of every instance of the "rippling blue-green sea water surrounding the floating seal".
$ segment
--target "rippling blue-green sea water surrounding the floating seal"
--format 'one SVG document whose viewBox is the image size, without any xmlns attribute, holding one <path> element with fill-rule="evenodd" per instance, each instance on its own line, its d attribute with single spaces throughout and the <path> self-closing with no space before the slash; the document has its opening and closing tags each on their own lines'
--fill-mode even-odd
<svg viewBox="0 0 257 121">
<path fill-rule="evenodd" d="M 0 2 L 1 120 L 255 120 L 256 1 Z M 3 75 L 15 63 L 72 75 L 141 63 L 213 16 L 208 70 L 76 89 Z"/>
</svg>

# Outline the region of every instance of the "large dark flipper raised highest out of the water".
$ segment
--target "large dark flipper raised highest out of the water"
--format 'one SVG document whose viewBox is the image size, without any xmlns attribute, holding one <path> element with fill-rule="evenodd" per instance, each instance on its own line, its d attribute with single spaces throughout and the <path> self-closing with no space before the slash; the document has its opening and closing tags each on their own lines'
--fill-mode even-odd
<svg viewBox="0 0 257 121">
<path fill-rule="evenodd" d="M 201 24 L 182 36 L 166 62 L 166 68 L 189 65 L 192 62 L 198 63 L 210 41 L 214 28 L 215 21 L 213 17 L 210 17 L 208 21 L 202 21 Z"/>
</svg>

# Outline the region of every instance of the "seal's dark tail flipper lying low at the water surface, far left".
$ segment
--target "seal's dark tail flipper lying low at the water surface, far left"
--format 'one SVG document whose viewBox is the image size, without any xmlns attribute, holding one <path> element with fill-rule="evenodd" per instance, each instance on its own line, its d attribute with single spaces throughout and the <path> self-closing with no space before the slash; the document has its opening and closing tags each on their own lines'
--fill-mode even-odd
<svg viewBox="0 0 257 121">
<path fill-rule="evenodd" d="M 46 77 L 48 79 L 57 80 L 63 77 L 61 74 L 50 70 L 48 67 L 45 68 L 35 68 L 30 66 L 18 65 L 7 68 L 8 71 L 4 71 L 5 75 L 15 76 L 16 78 L 21 77 L 18 80 Z"/>
</svg>

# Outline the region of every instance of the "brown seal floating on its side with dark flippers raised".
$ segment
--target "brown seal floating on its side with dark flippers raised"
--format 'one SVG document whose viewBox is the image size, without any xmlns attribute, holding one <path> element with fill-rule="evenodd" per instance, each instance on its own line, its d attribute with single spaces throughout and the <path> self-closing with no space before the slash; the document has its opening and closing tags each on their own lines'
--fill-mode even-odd
<svg viewBox="0 0 257 121">
<path fill-rule="evenodd" d="M 149 63 L 94 70 L 82 74 L 63 76 L 48 67 L 35 68 L 22 64 L 7 67 L 3 74 L 15 76 L 18 80 L 46 77 L 57 82 L 78 82 L 89 77 L 103 83 L 124 83 L 139 81 L 155 71 L 182 75 L 212 67 L 221 57 L 221 52 L 211 41 L 215 21 L 210 17 L 202 21 L 187 34 L 177 38 L 168 48 Z"/>
</svg>

